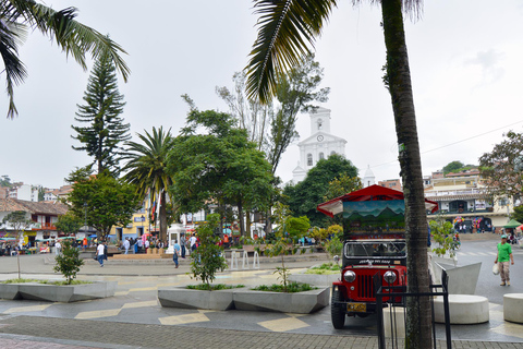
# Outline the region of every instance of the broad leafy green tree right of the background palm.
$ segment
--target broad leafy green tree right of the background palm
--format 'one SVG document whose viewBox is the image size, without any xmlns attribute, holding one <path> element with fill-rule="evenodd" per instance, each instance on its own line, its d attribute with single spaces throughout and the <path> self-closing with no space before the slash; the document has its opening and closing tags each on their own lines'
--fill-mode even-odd
<svg viewBox="0 0 523 349">
<path fill-rule="evenodd" d="M 264 154 L 247 140 L 247 132 L 234 125 L 228 113 L 199 111 L 192 105 L 186 127 L 169 154 L 169 171 L 180 212 L 208 209 L 210 203 L 235 205 L 244 234 L 243 210 L 268 206 L 273 177 Z"/>
</svg>

